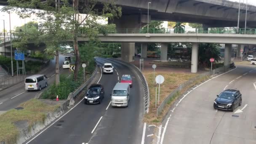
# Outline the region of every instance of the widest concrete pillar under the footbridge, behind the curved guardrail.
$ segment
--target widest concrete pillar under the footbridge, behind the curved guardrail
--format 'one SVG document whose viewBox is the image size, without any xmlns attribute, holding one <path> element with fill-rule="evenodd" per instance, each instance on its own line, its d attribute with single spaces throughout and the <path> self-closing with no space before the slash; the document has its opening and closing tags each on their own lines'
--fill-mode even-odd
<svg viewBox="0 0 256 144">
<path fill-rule="evenodd" d="M 123 61 L 131 62 L 134 60 L 135 43 L 122 43 L 121 59 Z"/>
</svg>

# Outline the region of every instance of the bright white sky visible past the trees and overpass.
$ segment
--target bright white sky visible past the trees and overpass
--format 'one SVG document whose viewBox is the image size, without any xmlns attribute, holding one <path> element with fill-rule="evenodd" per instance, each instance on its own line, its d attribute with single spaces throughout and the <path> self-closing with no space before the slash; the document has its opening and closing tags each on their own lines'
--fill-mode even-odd
<svg viewBox="0 0 256 144">
<path fill-rule="evenodd" d="M 239 2 L 239 0 L 229 0 L 233 2 Z M 240 0 L 241 3 L 246 3 L 246 0 Z M 247 0 L 248 4 L 251 5 L 256 5 L 256 0 Z M 3 6 L 0 6 L 0 9 L 2 9 Z M 9 26 L 9 14 L 8 13 L 3 13 L 0 11 L 0 32 L 3 32 L 3 21 L 5 20 L 5 29 L 7 31 L 10 31 L 10 26 Z M 24 23 L 33 21 L 33 18 L 26 18 L 26 19 L 20 19 L 18 15 L 15 13 L 11 13 L 11 29 L 14 29 L 15 27 L 20 27 L 21 25 L 24 25 Z"/>
</svg>

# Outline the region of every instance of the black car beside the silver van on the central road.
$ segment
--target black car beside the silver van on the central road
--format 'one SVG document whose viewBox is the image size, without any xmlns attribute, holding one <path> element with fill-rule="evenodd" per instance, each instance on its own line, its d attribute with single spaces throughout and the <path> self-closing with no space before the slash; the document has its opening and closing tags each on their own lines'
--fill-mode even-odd
<svg viewBox="0 0 256 144">
<path fill-rule="evenodd" d="M 101 84 L 93 84 L 85 94 L 85 104 L 100 104 L 104 98 L 104 88 Z"/>
</svg>

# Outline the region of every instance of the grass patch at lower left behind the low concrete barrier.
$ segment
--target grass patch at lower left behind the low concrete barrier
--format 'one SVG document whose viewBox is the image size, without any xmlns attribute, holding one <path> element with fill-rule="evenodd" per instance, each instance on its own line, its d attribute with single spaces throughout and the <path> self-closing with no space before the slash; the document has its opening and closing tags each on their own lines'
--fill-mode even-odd
<svg viewBox="0 0 256 144">
<path fill-rule="evenodd" d="M 59 105 L 50 106 L 37 99 L 31 99 L 19 105 L 24 109 L 11 109 L 0 115 L 0 142 L 16 143 L 19 129 L 14 125 L 15 122 L 26 120 L 31 126 L 34 122 L 44 122 L 46 114 L 53 112 Z"/>
</svg>

